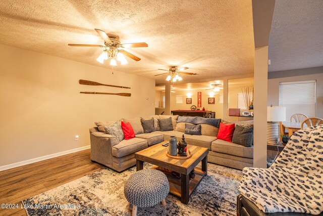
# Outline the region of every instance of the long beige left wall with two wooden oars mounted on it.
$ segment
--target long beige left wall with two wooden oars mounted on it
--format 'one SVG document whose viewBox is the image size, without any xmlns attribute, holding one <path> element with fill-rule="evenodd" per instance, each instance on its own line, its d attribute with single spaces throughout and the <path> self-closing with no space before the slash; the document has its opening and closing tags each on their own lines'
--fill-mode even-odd
<svg viewBox="0 0 323 216">
<path fill-rule="evenodd" d="M 4 45 L 0 59 L 0 166 L 87 146 L 94 121 L 154 114 L 153 79 Z M 80 85 L 78 79 L 131 89 Z"/>
</svg>

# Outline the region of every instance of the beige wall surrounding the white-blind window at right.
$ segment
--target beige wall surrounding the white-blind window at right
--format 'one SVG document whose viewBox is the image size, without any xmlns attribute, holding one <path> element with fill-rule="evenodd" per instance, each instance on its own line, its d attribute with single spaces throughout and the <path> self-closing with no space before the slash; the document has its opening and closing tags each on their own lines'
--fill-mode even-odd
<svg viewBox="0 0 323 216">
<path fill-rule="evenodd" d="M 323 67 L 269 72 L 267 105 L 279 105 L 280 82 L 303 80 L 316 80 L 316 117 L 323 118 Z"/>
</svg>

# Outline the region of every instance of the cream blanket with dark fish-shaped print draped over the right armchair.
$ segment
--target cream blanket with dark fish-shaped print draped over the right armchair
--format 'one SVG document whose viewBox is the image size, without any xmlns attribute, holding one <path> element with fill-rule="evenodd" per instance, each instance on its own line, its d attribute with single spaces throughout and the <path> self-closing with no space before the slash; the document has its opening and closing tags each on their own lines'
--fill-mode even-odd
<svg viewBox="0 0 323 216">
<path fill-rule="evenodd" d="M 264 212 L 322 212 L 323 125 L 294 133 L 270 168 L 245 167 L 239 191 Z"/>
</svg>

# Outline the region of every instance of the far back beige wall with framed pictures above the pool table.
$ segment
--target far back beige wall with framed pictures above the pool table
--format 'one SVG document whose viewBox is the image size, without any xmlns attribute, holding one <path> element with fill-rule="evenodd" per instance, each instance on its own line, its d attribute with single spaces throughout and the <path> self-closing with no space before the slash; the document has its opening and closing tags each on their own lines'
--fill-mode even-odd
<svg viewBox="0 0 323 216">
<path fill-rule="evenodd" d="M 205 91 L 205 90 L 190 90 L 190 91 L 176 91 L 175 93 L 171 93 L 171 110 L 177 110 L 177 109 L 184 109 L 184 110 L 190 110 L 192 105 L 195 105 L 197 107 L 197 93 L 202 93 L 202 107 L 200 109 L 202 110 L 203 107 L 205 110 L 210 110 L 213 112 L 216 112 L 216 118 L 223 118 L 223 103 L 219 103 L 219 94 L 223 94 L 223 90 L 221 90 L 218 93 L 212 92 L 211 90 Z M 187 94 L 190 93 L 192 96 L 192 104 L 186 104 L 186 98 Z M 207 98 L 210 96 L 209 93 L 214 93 L 214 104 L 208 104 Z M 176 103 L 176 96 L 182 95 L 183 96 L 183 104 L 177 104 Z"/>
</svg>

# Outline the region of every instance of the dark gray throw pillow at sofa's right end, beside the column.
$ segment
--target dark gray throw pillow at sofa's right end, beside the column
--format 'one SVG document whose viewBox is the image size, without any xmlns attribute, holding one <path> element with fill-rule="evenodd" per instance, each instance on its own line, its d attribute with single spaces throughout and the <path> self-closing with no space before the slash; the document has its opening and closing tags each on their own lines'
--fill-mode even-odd
<svg viewBox="0 0 323 216">
<path fill-rule="evenodd" d="M 253 125 L 236 125 L 233 133 L 232 142 L 245 147 L 253 144 Z"/>
</svg>

